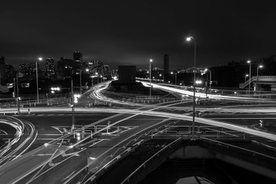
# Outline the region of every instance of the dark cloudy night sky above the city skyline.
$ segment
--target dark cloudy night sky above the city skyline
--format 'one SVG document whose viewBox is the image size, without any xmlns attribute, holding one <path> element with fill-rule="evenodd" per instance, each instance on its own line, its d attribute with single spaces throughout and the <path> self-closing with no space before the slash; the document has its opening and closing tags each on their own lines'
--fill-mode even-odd
<svg viewBox="0 0 276 184">
<path fill-rule="evenodd" d="M 1 1 L 0 55 L 6 63 L 39 56 L 99 59 L 112 68 L 148 60 L 163 68 L 259 60 L 276 54 L 273 1 Z M 271 3 L 270 3 L 271 2 Z"/>
</svg>

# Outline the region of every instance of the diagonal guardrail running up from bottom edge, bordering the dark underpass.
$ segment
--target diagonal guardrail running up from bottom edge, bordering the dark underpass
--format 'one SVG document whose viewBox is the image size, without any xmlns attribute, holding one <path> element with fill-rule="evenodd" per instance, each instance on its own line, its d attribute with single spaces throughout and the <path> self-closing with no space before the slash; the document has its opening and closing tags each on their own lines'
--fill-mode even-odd
<svg viewBox="0 0 276 184">
<path fill-rule="evenodd" d="M 128 175 L 124 181 L 121 182 L 122 183 L 129 183 L 130 182 L 130 178 L 132 178 L 133 176 L 135 176 L 135 174 L 137 174 L 137 172 L 139 172 L 140 170 L 142 170 L 144 167 L 146 167 L 147 164 L 150 163 L 150 161 L 152 161 L 152 159 L 155 159 L 156 157 L 159 157 L 160 154 L 162 152 L 164 152 L 164 150 L 167 150 L 168 148 L 171 148 L 173 144 L 176 144 L 180 141 L 181 139 L 176 139 L 175 141 L 172 141 L 171 143 L 169 143 L 168 145 L 166 145 L 165 147 L 163 147 L 161 150 L 159 150 L 158 152 L 156 152 L 155 154 L 153 154 L 152 156 L 150 156 L 149 159 L 147 159 L 146 161 L 144 161 L 144 163 L 142 163 L 139 167 L 137 167 L 137 169 L 132 172 L 130 175 Z"/>
</svg>

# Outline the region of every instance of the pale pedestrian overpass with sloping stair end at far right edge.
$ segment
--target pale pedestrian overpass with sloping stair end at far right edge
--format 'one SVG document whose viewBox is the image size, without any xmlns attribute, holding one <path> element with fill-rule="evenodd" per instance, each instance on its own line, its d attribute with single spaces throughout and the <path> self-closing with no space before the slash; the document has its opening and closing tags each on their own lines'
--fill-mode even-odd
<svg viewBox="0 0 276 184">
<path fill-rule="evenodd" d="M 267 84 L 271 85 L 271 89 L 276 85 L 276 76 L 252 76 L 251 79 L 248 79 L 244 83 L 239 83 L 239 88 L 246 88 L 249 83 L 256 83 L 256 84 Z"/>
</svg>

